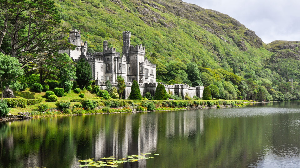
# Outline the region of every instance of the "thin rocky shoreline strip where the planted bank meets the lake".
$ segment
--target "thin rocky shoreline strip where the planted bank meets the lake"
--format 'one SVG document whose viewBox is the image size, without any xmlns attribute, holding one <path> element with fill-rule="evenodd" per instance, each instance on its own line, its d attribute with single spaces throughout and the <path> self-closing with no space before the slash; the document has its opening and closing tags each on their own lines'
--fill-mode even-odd
<svg viewBox="0 0 300 168">
<path fill-rule="evenodd" d="M 246 103 L 246 102 L 244 102 Z M 243 103 L 243 104 L 244 104 Z M 257 103 L 257 102 L 255 102 Z M 201 110 L 201 109 L 220 109 L 223 108 L 233 108 L 233 107 L 244 107 L 244 105 L 238 105 L 238 106 L 233 106 L 233 105 L 213 105 L 209 107 L 208 105 L 198 105 L 197 107 L 193 108 L 185 108 L 185 109 L 170 109 L 170 110 L 146 110 L 146 111 L 137 111 L 135 108 L 130 107 L 132 111 L 129 112 L 111 112 L 111 113 L 86 113 L 86 114 L 62 114 L 62 115 L 43 115 L 39 117 L 32 117 L 30 116 L 30 113 L 24 113 L 24 115 L 7 115 L 4 117 L 0 117 L 0 122 L 7 122 L 7 121 L 17 121 L 17 120 L 25 120 L 25 119 L 38 119 L 38 118 L 44 118 L 44 117 L 58 117 L 58 116 L 77 116 L 77 115 L 97 115 L 97 114 L 122 114 L 122 113 L 143 113 L 143 112 L 158 112 L 158 111 L 180 111 L 180 110 Z M 96 110 L 94 110 L 96 111 Z"/>
</svg>

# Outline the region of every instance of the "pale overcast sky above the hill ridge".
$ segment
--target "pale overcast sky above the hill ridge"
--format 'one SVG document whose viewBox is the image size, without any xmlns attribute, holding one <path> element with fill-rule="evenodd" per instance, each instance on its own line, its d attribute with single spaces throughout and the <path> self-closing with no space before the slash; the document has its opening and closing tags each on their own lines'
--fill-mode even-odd
<svg viewBox="0 0 300 168">
<path fill-rule="evenodd" d="M 183 0 L 229 15 L 264 43 L 300 41 L 300 0 Z"/>
</svg>

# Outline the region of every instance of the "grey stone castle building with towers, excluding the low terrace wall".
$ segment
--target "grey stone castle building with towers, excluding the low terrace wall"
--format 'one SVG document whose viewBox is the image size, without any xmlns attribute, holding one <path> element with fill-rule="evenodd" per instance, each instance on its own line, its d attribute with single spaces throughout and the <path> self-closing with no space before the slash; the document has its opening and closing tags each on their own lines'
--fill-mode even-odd
<svg viewBox="0 0 300 168">
<path fill-rule="evenodd" d="M 103 41 L 103 52 L 88 53 L 88 42 L 81 40 L 80 30 L 72 30 L 68 42 L 76 46 L 75 50 L 59 53 L 67 53 L 74 62 L 86 59 L 91 65 L 93 79 L 99 82 L 116 82 L 117 76 L 122 76 L 125 82 L 155 83 L 156 65 L 145 57 L 145 47 L 130 45 L 130 39 L 130 31 L 124 31 L 122 54 L 115 48 L 108 48 L 107 41 Z"/>
</svg>

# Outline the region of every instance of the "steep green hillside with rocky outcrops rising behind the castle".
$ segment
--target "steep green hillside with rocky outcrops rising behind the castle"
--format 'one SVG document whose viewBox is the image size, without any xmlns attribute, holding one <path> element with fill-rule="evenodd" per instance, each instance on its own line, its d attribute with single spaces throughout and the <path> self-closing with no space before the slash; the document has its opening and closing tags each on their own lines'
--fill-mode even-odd
<svg viewBox="0 0 300 168">
<path fill-rule="evenodd" d="M 245 90 L 248 99 L 255 99 L 257 91 L 267 89 L 273 100 L 281 100 L 283 95 L 285 100 L 298 99 L 295 93 L 300 69 L 289 65 L 297 63 L 291 55 L 299 56 L 298 48 L 282 49 L 276 42 L 264 44 L 254 31 L 226 14 L 180 0 L 55 2 L 63 24 L 81 30 L 90 52 L 101 52 L 103 40 L 122 52 L 122 32 L 131 31 L 131 43 L 143 44 L 146 56 L 157 64 L 157 81 L 173 79 L 191 85 L 187 65 L 193 62 L 201 71 L 204 86 L 223 88 L 223 98 L 237 98 Z M 287 67 L 281 69 L 283 65 L 275 58 Z M 281 90 L 281 85 L 291 86 L 289 78 L 295 87 Z M 242 89 L 241 81 L 248 90 Z"/>
</svg>

